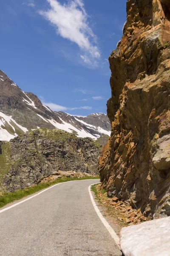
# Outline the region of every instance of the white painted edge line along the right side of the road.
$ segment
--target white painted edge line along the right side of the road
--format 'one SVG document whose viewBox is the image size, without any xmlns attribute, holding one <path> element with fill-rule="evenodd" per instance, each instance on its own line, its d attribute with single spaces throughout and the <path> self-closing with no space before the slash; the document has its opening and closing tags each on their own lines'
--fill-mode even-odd
<svg viewBox="0 0 170 256">
<path fill-rule="evenodd" d="M 108 221 L 105 220 L 105 218 L 103 217 L 102 213 L 100 212 L 99 208 L 96 206 L 96 203 L 94 201 L 94 198 L 93 198 L 93 195 L 91 193 L 91 186 L 95 185 L 95 184 L 99 184 L 98 183 L 94 183 L 94 184 L 91 184 L 89 187 L 88 187 L 88 192 L 90 194 L 90 198 L 91 198 L 91 202 L 94 206 L 94 209 L 97 213 L 97 215 L 99 216 L 100 220 L 102 221 L 102 223 L 105 225 L 105 227 L 107 228 L 108 232 L 111 234 L 111 237 L 114 239 L 114 241 L 116 242 L 116 244 L 118 245 L 119 249 L 120 249 L 120 239 L 119 239 L 119 236 L 116 234 L 116 232 L 113 230 L 113 228 L 110 226 L 110 224 L 108 224 Z"/>
</svg>

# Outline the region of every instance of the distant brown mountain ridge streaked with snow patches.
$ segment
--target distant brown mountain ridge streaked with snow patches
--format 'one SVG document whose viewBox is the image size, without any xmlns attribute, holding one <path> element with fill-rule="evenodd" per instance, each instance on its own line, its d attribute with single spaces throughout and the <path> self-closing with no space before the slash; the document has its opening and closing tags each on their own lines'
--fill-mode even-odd
<svg viewBox="0 0 170 256">
<path fill-rule="evenodd" d="M 37 128 L 62 129 L 77 137 L 110 136 L 111 124 L 104 113 L 72 116 L 52 111 L 33 93 L 26 93 L 0 70 L 0 140 L 14 137 Z"/>
</svg>

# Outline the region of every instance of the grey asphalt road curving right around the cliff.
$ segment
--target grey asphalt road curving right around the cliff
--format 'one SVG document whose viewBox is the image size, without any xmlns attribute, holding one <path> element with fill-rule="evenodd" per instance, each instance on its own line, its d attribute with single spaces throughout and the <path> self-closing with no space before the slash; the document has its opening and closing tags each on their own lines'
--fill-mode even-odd
<svg viewBox="0 0 170 256">
<path fill-rule="evenodd" d="M 121 256 L 90 199 L 98 181 L 61 183 L 0 212 L 0 256 Z"/>
</svg>

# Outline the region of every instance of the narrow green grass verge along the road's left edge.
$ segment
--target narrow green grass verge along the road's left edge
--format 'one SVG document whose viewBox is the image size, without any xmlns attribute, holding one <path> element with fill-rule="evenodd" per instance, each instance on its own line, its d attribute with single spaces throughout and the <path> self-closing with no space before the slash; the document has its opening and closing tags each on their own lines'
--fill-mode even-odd
<svg viewBox="0 0 170 256">
<path fill-rule="evenodd" d="M 62 178 L 58 178 L 57 180 L 54 180 L 53 182 L 48 182 L 48 183 L 40 183 L 40 184 L 37 184 L 33 187 L 28 187 L 28 188 L 25 188 L 25 189 L 19 189 L 15 192 L 6 192 L 6 193 L 3 193 L 2 192 L 2 195 L 0 195 L 0 208 L 5 206 L 6 204 L 9 204 L 15 200 L 19 200 L 27 195 L 31 195 L 35 192 L 38 192 L 42 189 L 46 189 L 48 188 L 49 186 L 52 186 L 54 184 L 57 184 L 57 183 L 62 183 L 62 182 L 66 182 L 66 181 L 70 181 L 70 180 L 87 180 L 87 179 L 98 179 L 99 177 L 83 177 L 83 178 L 77 178 L 77 177 L 74 177 L 74 178 L 69 178 L 69 177 L 62 177 Z"/>
</svg>

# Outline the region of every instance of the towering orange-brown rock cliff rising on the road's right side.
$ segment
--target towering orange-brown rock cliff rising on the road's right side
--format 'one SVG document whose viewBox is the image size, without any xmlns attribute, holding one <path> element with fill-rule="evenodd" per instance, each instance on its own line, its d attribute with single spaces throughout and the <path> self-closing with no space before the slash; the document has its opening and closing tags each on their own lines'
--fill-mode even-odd
<svg viewBox="0 0 170 256">
<path fill-rule="evenodd" d="M 170 215 L 170 7 L 128 0 L 127 22 L 109 57 L 111 138 L 99 171 L 108 195 L 146 216 Z"/>
</svg>

